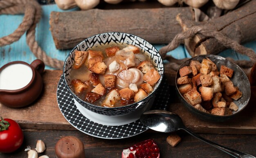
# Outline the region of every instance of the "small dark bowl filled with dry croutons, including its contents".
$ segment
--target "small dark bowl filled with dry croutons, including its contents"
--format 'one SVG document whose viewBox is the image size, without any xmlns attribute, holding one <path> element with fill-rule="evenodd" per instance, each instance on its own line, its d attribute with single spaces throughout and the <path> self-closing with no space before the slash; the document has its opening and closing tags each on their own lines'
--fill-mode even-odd
<svg viewBox="0 0 256 158">
<path fill-rule="evenodd" d="M 251 96 L 249 80 L 234 62 L 216 55 L 184 62 L 175 78 L 182 104 L 203 120 L 222 122 L 240 113 Z"/>
</svg>

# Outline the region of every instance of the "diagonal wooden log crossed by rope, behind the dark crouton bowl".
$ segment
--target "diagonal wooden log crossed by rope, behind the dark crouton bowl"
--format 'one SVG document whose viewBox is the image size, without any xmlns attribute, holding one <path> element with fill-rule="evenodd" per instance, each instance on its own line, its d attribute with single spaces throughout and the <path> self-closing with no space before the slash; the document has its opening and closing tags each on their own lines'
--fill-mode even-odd
<svg viewBox="0 0 256 158">
<path fill-rule="evenodd" d="M 195 25 L 202 25 L 208 29 L 220 31 L 238 43 L 245 43 L 256 40 L 255 6 L 256 0 L 251 0 L 240 8 L 210 21 L 193 22 L 182 15 L 177 16 L 177 21 L 179 21 L 183 31 Z M 227 49 L 218 43 L 215 38 L 205 37 L 200 34 L 184 40 L 184 44 L 192 57 L 200 54 L 217 54 Z"/>
</svg>

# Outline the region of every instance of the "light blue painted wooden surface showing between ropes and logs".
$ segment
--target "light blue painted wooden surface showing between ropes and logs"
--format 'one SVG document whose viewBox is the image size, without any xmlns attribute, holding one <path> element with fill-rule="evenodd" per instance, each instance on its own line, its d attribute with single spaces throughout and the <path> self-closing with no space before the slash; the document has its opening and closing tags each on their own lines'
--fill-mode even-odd
<svg viewBox="0 0 256 158">
<path fill-rule="evenodd" d="M 65 60 L 67 54 L 70 50 L 57 50 L 52 34 L 49 30 L 49 16 L 52 11 L 62 11 L 58 9 L 56 4 L 51 5 L 44 5 L 43 7 L 43 15 L 42 19 L 38 23 L 36 27 L 36 40 L 38 45 L 42 47 L 42 49 L 47 53 L 47 55 L 51 56 L 52 58 L 57 58 L 58 60 Z M 73 11 L 77 9 L 71 9 L 68 11 Z M 22 22 L 23 15 L 0 15 L 0 37 L 7 36 L 12 33 L 18 25 Z M 113 30 L 115 31 L 115 30 Z M 157 50 L 161 49 L 164 45 L 154 45 Z M 256 51 L 256 41 L 249 42 L 245 44 L 245 47 L 249 47 Z M 186 57 L 191 57 L 189 53 L 184 49 L 183 45 L 179 46 L 177 49 L 169 52 L 168 54 L 172 55 L 174 58 L 182 59 Z M 219 54 L 223 57 L 232 57 L 235 60 L 238 59 L 247 59 L 247 56 L 242 56 L 235 51 L 228 49 L 223 51 Z M 31 63 L 35 60 L 36 57 L 34 54 L 29 50 L 29 47 L 26 43 L 26 37 L 23 35 L 20 40 L 14 42 L 11 45 L 7 45 L 4 47 L 0 47 L 0 67 L 2 65 L 16 60 L 25 61 Z M 46 69 L 52 69 L 51 67 L 46 67 Z"/>
</svg>

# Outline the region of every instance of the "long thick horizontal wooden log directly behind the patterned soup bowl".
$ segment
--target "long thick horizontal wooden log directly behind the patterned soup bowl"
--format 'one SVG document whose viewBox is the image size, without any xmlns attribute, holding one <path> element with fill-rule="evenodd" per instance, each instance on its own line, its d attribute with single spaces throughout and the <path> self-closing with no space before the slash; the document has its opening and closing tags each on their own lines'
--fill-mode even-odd
<svg viewBox="0 0 256 158">
<path fill-rule="evenodd" d="M 52 12 L 49 23 L 57 49 L 73 48 L 85 38 L 110 31 L 131 33 L 162 44 L 182 31 L 175 20 L 178 13 L 192 20 L 190 8 L 179 7 Z"/>
</svg>

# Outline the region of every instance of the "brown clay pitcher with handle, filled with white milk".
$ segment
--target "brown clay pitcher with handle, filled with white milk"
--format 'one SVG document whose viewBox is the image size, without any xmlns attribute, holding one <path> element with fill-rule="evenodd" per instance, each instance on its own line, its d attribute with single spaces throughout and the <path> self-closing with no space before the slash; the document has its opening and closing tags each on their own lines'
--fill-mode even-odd
<svg viewBox="0 0 256 158">
<path fill-rule="evenodd" d="M 24 107 L 36 100 L 43 89 L 42 60 L 9 62 L 0 68 L 0 102 L 7 107 Z"/>
</svg>

